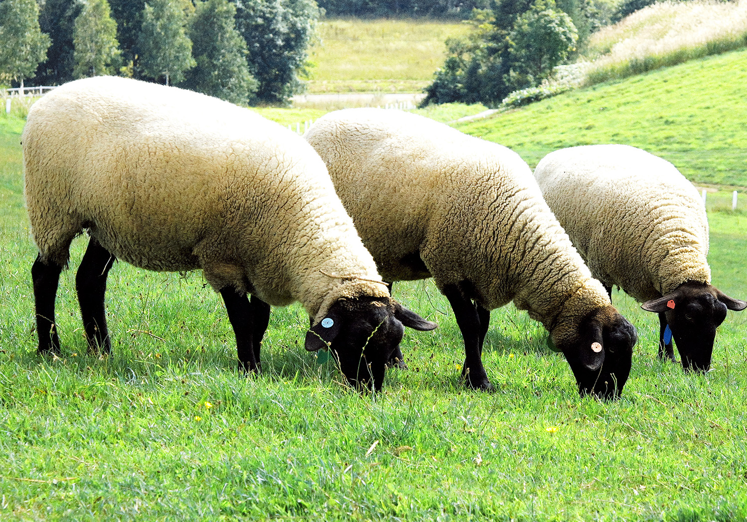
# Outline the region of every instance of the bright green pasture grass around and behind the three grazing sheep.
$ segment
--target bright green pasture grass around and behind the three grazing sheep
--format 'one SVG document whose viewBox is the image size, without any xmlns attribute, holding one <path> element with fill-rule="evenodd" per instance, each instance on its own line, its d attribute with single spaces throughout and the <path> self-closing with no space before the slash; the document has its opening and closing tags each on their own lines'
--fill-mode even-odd
<svg viewBox="0 0 747 522">
<path fill-rule="evenodd" d="M 678 152 L 694 179 L 723 169 L 719 179 L 747 186 L 743 87 L 715 83 L 723 67 L 739 72 L 744 55 L 731 57 L 460 128 L 530 163 L 616 132 L 664 157 Z M 671 101 L 657 109 L 645 98 Z M 289 114 L 267 116 L 317 117 Z M 658 116 L 678 125 L 655 125 Z M 542 327 L 505 306 L 492 313 L 483 354 L 498 391 L 485 394 L 457 379 L 462 341 L 445 299 L 430 282 L 398 284 L 395 296 L 440 327 L 407 332 L 409 371 L 388 371 L 382 392 L 359 394 L 303 350 L 298 306 L 273 309 L 263 374 L 236 374 L 223 304 L 199 273 L 117 263 L 113 353 L 88 355 L 78 238 L 58 293 L 63 353 L 37 356 L 21 128 L 0 115 L 0 520 L 747 520 L 747 314 L 729 312 L 719 327 L 712 371 L 684 375 L 657 360 L 657 318 L 616 292 L 639 344 L 622 400 L 601 403 L 578 397 Z M 713 283 L 746 298 L 747 212 L 714 211 L 726 196 L 708 197 Z"/>
</svg>

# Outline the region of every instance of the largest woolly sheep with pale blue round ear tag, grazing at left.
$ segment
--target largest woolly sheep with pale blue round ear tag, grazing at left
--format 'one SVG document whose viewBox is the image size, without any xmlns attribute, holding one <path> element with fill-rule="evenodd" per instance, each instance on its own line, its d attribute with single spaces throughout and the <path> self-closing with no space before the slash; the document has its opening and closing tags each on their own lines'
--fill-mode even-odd
<svg viewBox="0 0 747 522">
<path fill-rule="evenodd" d="M 306 349 L 329 346 L 351 385 L 375 389 L 403 325 L 436 327 L 391 299 L 313 149 L 250 110 L 87 78 L 31 107 L 22 146 L 39 353 L 60 352 L 55 295 L 84 230 L 75 286 L 91 350 L 111 351 L 104 295 L 115 259 L 202 269 L 226 304 L 242 371 L 260 369 L 270 305 L 299 301 L 311 318 Z"/>
</svg>

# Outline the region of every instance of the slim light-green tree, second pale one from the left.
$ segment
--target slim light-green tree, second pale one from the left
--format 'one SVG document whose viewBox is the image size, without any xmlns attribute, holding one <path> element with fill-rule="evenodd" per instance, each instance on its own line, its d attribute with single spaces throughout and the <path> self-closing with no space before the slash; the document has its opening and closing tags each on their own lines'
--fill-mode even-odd
<svg viewBox="0 0 747 522">
<path fill-rule="evenodd" d="M 86 0 L 75 19 L 72 31 L 75 61 L 72 75 L 75 78 L 111 75 L 116 71 L 120 44 L 117 42 L 117 22 L 110 14 L 107 0 Z"/>
</svg>

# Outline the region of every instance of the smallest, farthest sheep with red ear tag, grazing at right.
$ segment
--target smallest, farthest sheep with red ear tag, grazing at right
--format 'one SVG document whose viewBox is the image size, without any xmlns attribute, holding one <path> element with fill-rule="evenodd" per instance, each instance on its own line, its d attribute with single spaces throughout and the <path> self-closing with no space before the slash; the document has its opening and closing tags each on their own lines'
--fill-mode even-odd
<svg viewBox="0 0 747 522">
<path fill-rule="evenodd" d="M 747 303 L 710 284 L 708 221 L 698 191 L 666 160 L 630 145 L 585 145 L 545 156 L 545 200 L 604 284 L 659 314 L 659 357 L 707 371 L 726 310 Z"/>
</svg>

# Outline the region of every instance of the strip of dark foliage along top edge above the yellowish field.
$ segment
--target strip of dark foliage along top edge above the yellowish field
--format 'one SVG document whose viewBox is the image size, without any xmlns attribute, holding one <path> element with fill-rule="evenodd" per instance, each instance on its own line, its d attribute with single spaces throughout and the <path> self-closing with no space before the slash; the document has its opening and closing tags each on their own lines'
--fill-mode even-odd
<svg viewBox="0 0 747 522">
<path fill-rule="evenodd" d="M 384 16 L 467 18 L 473 9 L 486 9 L 490 0 L 319 0 L 326 16 Z"/>
</svg>

